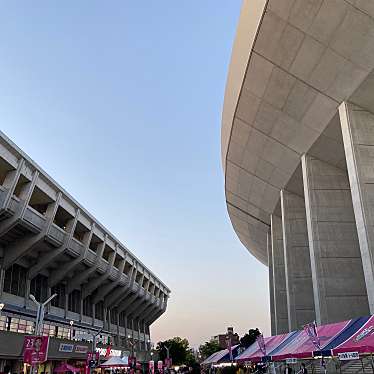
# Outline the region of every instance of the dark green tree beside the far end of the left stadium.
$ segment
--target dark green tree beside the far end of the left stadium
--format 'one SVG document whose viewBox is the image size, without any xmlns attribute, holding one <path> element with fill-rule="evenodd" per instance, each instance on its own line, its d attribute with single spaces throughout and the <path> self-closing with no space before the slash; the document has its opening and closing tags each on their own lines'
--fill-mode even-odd
<svg viewBox="0 0 374 374">
<path fill-rule="evenodd" d="M 195 357 L 187 339 L 177 336 L 163 342 L 158 342 L 156 351 L 160 360 L 165 360 L 168 349 L 174 365 L 192 366 L 195 362 Z"/>
</svg>

